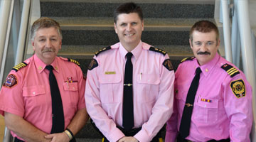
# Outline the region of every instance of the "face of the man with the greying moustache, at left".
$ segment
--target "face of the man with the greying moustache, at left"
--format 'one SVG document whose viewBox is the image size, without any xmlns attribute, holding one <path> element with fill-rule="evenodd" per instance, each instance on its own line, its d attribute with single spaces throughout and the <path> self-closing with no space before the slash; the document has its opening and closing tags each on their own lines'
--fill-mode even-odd
<svg viewBox="0 0 256 142">
<path fill-rule="evenodd" d="M 33 50 L 46 65 L 50 65 L 61 48 L 61 38 L 56 28 L 39 28 L 32 40 Z"/>
</svg>

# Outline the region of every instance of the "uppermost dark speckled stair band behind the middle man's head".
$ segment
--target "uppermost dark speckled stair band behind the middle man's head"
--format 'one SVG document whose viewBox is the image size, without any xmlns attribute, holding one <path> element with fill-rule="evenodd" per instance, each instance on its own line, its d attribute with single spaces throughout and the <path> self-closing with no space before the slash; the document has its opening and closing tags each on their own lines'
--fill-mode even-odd
<svg viewBox="0 0 256 142">
<path fill-rule="evenodd" d="M 112 17 L 117 3 L 41 1 L 41 16 Z M 144 18 L 213 18 L 214 4 L 139 4 Z M 63 11 L 65 9 L 65 11 Z M 193 12 L 191 12 L 193 11 Z"/>
</svg>

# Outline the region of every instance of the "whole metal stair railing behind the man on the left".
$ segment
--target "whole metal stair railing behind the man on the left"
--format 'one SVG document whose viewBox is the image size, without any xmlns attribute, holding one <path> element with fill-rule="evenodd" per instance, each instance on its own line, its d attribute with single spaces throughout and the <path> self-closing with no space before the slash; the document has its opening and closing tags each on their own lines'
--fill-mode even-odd
<svg viewBox="0 0 256 142">
<path fill-rule="evenodd" d="M 15 58 L 15 61 L 12 61 L 15 62 L 14 65 L 17 65 L 19 62 L 23 61 L 24 50 L 26 48 L 26 37 L 28 34 L 27 31 L 28 21 L 30 17 L 29 12 L 31 11 L 31 0 L 23 0 L 23 3 L 20 3 L 19 0 L 8 0 L 0 2 L 0 16 L 4 17 L 4 20 L 1 19 L 0 21 L 0 47 L 4 47 L 0 48 L 0 82 L 2 84 L 3 78 L 5 76 L 4 70 L 6 69 L 7 64 L 8 50 L 12 52 L 11 55 L 14 56 L 12 60 L 14 60 Z M 22 13 L 20 13 L 20 11 L 17 12 L 17 9 L 20 10 L 19 7 L 21 6 L 21 4 L 23 4 L 23 8 L 21 9 Z M 17 29 L 17 26 L 19 26 L 19 30 Z M 11 38 L 14 38 L 14 43 L 12 43 L 12 45 L 10 43 L 11 34 L 13 35 Z M 16 35 L 18 35 L 18 42 L 15 38 Z M 1 36 L 3 36 L 3 38 Z M 12 49 L 10 50 L 10 48 Z M 14 65 L 11 66 L 13 67 Z M 11 141 L 11 133 L 9 129 L 5 128 L 4 142 L 9 141 Z"/>
</svg>

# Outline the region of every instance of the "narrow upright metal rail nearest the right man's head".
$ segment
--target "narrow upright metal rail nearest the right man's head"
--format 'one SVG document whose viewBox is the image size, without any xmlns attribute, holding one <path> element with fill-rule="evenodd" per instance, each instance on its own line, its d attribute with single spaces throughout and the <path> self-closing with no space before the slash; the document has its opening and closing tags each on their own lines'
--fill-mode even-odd
<svg viewBox="0 0 256 142">
<path fill-rule="evenodd" d="M 223 12 L 223 32 L 224 32 L 224 45 L 225 45 L 225 59 L 229 62 L 233 62 L 231 39 L 230 39 L 230 17 L 228 11 L 228 0 L 221 0 L 222 12 Z"/>
</svg>

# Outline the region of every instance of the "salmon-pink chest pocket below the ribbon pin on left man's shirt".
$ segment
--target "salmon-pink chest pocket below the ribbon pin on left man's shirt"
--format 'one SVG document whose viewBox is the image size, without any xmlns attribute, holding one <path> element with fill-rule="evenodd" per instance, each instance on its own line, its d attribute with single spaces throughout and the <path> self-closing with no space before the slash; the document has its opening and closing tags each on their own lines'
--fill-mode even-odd
<svg viewBox="0 0 256 142">
<path fill-rule="evenodd" d="M 67 94 L 70 98 L 70 99 L 68 99 L 70 101 L 70 104 L 73 107 L 76 107 L 78 104 L 78 100 L 79 100 L 78 82 L 72 82 L 72 83 L 64 82 L 63 89 L 65 91 L 64 94 Z M 63 102 L 65 102 L 64 98 L 63 98 Z"/>
</svg>

